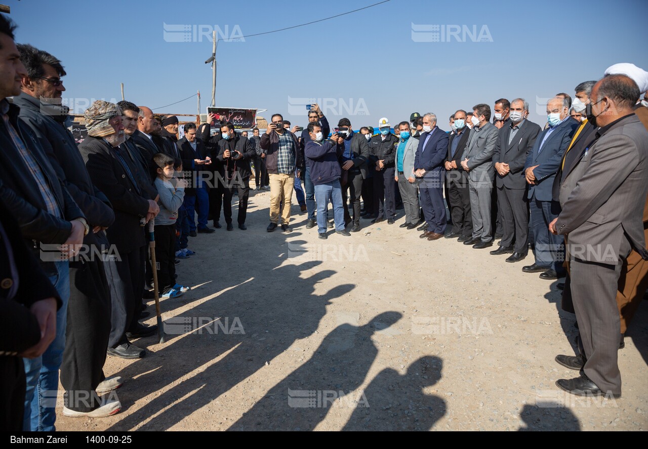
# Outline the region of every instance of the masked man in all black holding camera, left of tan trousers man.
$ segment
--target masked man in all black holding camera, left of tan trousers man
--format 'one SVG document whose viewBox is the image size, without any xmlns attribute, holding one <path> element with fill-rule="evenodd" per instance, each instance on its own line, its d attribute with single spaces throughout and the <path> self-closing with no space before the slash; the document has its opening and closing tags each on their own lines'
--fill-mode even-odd
<svg viewBox="0 0 648 449">
<path fill-rule="evenodd" d="M 249 177 L 251 170 L 249 161 L 257 152 L 247 137 L 237 134 L 232 122 L 222 124 L 220 133 L 223 138 L 218 142 L 217 159 L 225 166 L 225 196 L 223 199 L 223 214 L 227 230 L 232 226 L 232 197 L 234 189 L 238 190 L 238 228 L 246 230 L 245 218 L 248 213 Z"/>
</svg>

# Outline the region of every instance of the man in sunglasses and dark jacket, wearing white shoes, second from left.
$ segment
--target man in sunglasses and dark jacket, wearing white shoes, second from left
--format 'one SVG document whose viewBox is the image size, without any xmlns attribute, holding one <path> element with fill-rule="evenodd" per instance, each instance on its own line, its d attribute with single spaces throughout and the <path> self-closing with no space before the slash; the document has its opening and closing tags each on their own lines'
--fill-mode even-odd
<svg viewBox="0 0 648 449">
<path fill-rule="evenodd" d="M 113 224 L 115 214 L 106 195 L 93 186 L 75 138 L 64 125 L 67 107 L 54 105 L 56 99 L 60 102 L 62 84 L 55 86 L 41 80 L 43 75 L 64 76 L 60 61 L 31 45 L 19 45 L 18 49 L 27 76 L 23 77 L 22 92 L 14 98 L 14 104 L 21 108 L 20 117 L 38 137 L 52 168 L 93 230 L 84 237 L 84 255 L 70 261 L 67 342 L 61 366 L 65 410 L 93 417 L 108 415 L 119 404 L 111 402 L 102 408 L 95 393 L 105 378 L 102 367 L 110 334 L 110 290 L 98 254 L 108 249 L 103 230 Z"/>
</svg>

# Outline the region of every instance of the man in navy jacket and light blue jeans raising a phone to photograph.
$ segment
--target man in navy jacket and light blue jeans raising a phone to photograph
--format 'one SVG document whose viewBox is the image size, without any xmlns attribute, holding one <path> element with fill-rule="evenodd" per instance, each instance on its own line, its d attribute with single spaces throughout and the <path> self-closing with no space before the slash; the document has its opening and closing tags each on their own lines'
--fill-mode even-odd
<svg viewBox="0 0 648 449">
<path fill-rule="evenodd" d="M 327 238 L 326 210 L 329 201 L 333 207 L 336 232 L 349 236 L 351 234 L 345 230 L 344 225 L 344 205 L 340 186 L 341 167 L 338 160 L 344 149 L 341 145 L 342 138 L 336 133 L 330 140 L 323 142 L 324 136 L 317 122 L 308 124 L 308 135 L 310 140 L 306 144 L 304 153 L 310 166 L 310 179 L 315 186 L 319 238 Z"/>
</svg>

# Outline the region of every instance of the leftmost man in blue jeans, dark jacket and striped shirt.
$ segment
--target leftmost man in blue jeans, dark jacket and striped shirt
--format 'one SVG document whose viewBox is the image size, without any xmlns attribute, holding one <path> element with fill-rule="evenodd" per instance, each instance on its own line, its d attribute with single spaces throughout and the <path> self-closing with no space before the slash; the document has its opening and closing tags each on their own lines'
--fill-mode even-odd
<svg viewBox="0 0 648 449">
<path fill-rule="evenodd" d="M 20 61 L 20 53 L 14 43 L 15 26 L 0 16 L 0 197 L 20 226 L 25 243 L 36 257 L 45 250 L 43 244 L 66 245 L 65 256 L 78 254 L 78 245 L 89 227 L 83 212 L 78 208 L 64 184 L 47 160 L 33 131 L 18 119 L 18 107 L 6 97 L 21 93 L 21 79 L 28 76 Z M 52 69 L 53 70 L 53 69 Z M 52 85 L 58 77 L 42 80 Z M 56 328 L 56 336 L 42 355 L 34 353 L 25 358 L 27 393 L 25 395 L 24 430 L 53 432 L 56 413 L 54 408 L 40 404 L 48 397 L 48 391 L 58 389 L 58 370 L 65 347 L 67 301 L 69 300 L 69 263 L 61 260 L 61 254 L 40 265 L 56 288 L 62 307 L 54 315 L 51 304 L 39 316 L 41 329 L 49 334 Z M 10 289 L 13 281 L 4 282 Z M 39 351 L 40 352 L 40 351 Z"/>
</svg>

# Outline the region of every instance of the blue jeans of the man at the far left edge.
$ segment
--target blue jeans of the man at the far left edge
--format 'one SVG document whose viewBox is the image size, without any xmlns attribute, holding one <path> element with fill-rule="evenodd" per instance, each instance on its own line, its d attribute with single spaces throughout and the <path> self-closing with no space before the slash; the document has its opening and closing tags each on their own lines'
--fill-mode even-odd
<svg viewBox="0 0 648 449">
<path fill-rule="evenodd" d="M 70 272 L 67 261 L 54 262 L 56 276 L 49 280 L 63 301 L 56 312 L 56 337 L 43 355 L 23 358 L 27 376 L 25 415 L 23 430 L 54 432 L 56 421 L 56 396 L 58 392 L 58 369 L 65 349 L 65 325 L 67 324 L 67 301 L 70 298 Z"/>
</svg>

